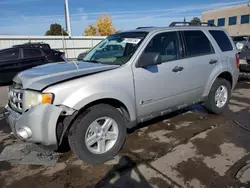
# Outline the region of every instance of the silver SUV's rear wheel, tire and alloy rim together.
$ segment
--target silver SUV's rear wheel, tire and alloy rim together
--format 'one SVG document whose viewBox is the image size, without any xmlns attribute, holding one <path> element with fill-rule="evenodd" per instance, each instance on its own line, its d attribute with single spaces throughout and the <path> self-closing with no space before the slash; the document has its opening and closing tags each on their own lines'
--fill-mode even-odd
<svg viewBox="0 0 250 188">
<path fill-rule="evenodd" d="M 204 107 L 214 114 L 220 114 L 228 106 L 231 84 L 226 79 L 217 78 L 213 83 Z"/>
</svg>

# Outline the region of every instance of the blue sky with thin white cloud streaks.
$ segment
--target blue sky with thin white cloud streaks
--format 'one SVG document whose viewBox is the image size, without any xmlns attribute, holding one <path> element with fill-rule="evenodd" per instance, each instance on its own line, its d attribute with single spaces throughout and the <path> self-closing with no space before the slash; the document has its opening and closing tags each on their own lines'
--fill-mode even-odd
<svg viewBox="0 0 250 188">
<path fill-rule="evenodd" d="M 108 13 L 117 30 L 168 26 L 201 18 L 203 11 L 246 4 L 249 0 L 68 0 L 73 36 Z M 44 35 L 50 24 L 65 28 L 64 0 L 0 0 L 0 34 Z"/>
</svg>

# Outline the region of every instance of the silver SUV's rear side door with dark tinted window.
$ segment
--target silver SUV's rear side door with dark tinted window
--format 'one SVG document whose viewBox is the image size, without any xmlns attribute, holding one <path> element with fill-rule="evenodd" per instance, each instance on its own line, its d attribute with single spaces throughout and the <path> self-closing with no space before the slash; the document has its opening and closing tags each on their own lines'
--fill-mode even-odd
<svg viewBox="0 0 250 188">
<path fill-rule="evenodd" d="M 220 68 L 208 33 L 202 30 L 182 31 L 185 46 L 185 78 L 188 88 L 186 102 L 199 102 L 213 69 Z"/>
</svg>

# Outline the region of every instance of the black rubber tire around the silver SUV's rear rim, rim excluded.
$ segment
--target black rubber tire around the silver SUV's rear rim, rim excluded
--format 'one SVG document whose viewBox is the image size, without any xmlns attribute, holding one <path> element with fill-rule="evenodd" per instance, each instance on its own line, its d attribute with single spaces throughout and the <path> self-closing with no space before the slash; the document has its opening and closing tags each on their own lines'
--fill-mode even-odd
<svg viewBox="0 0 250 188">
<path fill-rule="evenodd" d="M 221 87 L 224 87 L 227 90 L 228 94 L 225 104 L 218 107 L 215 97 L 216 91 Z M 228 106 L 228 102 L 231 96 L 231 88 L 232 87 L 229 81 L 223 78 L 217 78 L 210 89 L 207 99 L 204 102 L 205 109 L 213 114 L 221 114 Z"/>
</svg>

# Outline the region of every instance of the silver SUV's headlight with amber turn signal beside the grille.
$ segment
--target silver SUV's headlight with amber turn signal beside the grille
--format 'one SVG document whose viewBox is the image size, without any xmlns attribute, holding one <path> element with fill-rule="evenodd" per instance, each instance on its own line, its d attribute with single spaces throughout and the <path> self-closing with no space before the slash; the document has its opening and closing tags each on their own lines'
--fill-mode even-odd
<svg viewBox="0 0 250 188">
<path fill-rule="evenodd" d="M 39 104 L 52 104 L 53 100 L 53 93 L 40 93 L 37 91 L 27 90 L 24 97 L 24 107 L 25 109 L 29 109 Z"/>
</svg>

